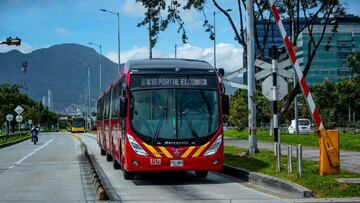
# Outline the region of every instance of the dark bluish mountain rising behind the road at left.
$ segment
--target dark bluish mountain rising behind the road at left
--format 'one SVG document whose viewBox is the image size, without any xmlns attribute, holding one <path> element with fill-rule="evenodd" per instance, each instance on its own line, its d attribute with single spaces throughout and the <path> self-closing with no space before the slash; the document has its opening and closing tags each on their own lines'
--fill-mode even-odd
<svg viewBox="0 0 360 203">
<path fill-rule="evenodd" d="M 23 73 L 21 67 L 25 61 L 27 72 Z M 24 85 L 26 80 L 27 93 L 36 101 L 42 101 L 50 90 L 53 110 L 65 112 L 69 106 L 79 107 L 87 102 L 87 64 L 90 68 L 91 106 L 94 107 L 100 93 L 99 54 L 79 44 L 55 45 L 29 54 L 15 50 L 0 53 L 0 84 Z M 102 89 L 116 76 L 117 64 L 102 57 Z"/>
</svg>

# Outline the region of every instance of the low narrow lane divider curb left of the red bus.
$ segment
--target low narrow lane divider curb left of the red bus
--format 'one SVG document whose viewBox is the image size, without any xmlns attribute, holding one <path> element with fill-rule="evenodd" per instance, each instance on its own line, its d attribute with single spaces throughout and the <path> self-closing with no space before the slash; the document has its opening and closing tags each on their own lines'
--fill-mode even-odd
<svg viewBox="0 0 360 203">
<path fill-rule="evenodd" d="M 96 196 L 99 200 L 121 201 L 119 195 L 115 192 L 105 172 L 95 159 L 91 150 L 80 139 L 80 143 L 85 148 L 85 156 L 91 165 L 91 175 L 93 176 L 93 184 L 96 190 Z M 101 199 L 106 197 L 106 199 Z"/>
</svg>

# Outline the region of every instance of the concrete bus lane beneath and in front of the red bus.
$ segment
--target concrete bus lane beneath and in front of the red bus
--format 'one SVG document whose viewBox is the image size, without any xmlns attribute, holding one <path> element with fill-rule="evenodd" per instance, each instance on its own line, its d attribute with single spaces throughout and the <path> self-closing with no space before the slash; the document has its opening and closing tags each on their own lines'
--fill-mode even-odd
<svg viewBox="0 0 360 203">
<path fill-rule="evenodd" d="M 193 172 L 148 173 L 136 180 L 125 180 L 121 170 L 100 155 L 100 148 L 92 134 L 79 134 L 90 153 L 100 164 L 118 200 L 122 202 L 284 202 L 279 196 L 246 182 L 209 173 L 200 179 Z"/>
</svg>

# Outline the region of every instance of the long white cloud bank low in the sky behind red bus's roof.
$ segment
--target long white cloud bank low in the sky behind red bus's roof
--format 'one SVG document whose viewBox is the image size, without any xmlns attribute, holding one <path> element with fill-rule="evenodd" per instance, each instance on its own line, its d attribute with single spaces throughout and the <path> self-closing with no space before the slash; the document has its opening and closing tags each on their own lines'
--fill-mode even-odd
<svg viewBox="0 0 360 203">
<path fill-rule="evenodd" d="M 108 52 L 105 54 L 107 58 L 117 63 L 117 52 Z M 174 53 L 164 53 L 153 49 L 154 58 L 174 58 Z M 137 47 L 121 52 L 121 61 L 126 62 L 131 59 L 143 59 L 149 57 L 149 49 L 147 47 Z M 178 46 L 178 58 L 199 59 L 209 62 L 211 65 L 214 61 L 213 47 L 201 48 L 190 44 Z M 242 67 L 243 49 L 235 47 L 232 44 L 219 43 L 216 45 L 216 64 L 218 68 L 224 68 L 226 72 L 231 72 Z"/>
</svg>

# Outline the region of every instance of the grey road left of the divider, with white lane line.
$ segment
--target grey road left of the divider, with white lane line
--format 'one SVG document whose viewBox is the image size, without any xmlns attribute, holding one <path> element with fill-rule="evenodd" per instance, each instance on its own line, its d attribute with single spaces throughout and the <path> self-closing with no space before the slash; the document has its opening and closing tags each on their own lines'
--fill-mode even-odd
<svg viewBox="0 0 360 203">
<path fill-rule="evenodd" d="M 0 202 L 87 202 L 95 200 L 79 141 L 40 133 L 0 149 Z"/>
</svg>

